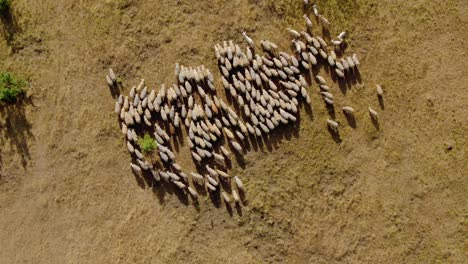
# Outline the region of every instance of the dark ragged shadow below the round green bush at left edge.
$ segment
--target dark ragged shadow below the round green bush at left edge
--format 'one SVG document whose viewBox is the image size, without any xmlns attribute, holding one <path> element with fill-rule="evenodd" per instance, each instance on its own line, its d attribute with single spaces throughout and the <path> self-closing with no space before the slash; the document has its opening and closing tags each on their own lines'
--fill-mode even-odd
<svg viewBox="0 0 468 264">
<path fill-rule="evenodd" d="M 16 103 L 0 103 L 0 146 L 9 144 L 21 158 L 21 165 L 26 167 L 31 154 L 30 140 L 34 140 L 32 125 L 26 118 L 26 107 L 33 106 L 31 97 L 20 98 Z M 0 148 L 0 168 L 2 167 L 2 149 Z"/>
</svg>

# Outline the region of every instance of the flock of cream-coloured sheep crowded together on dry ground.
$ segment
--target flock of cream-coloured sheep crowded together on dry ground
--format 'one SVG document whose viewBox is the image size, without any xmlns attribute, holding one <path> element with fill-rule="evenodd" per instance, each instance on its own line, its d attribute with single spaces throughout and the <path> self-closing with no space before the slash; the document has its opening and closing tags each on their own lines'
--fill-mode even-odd
<svg viewBox="0 0 468 264">
<path fill-rule="evenodd" d="M 314 14 L 318 23 L 328 29 L 328 20 L 315 6 Z M 322 37 L 313 36 L 313 23 L 306 15 L 304 17 L 305 31 L 287 29 L 292 38 L 292 54 L 280 51 L 276 44 L 267 40 L 260 41 L 257 46 L 245 32 L 242 33 L 247 43 L 245 49 L 232 41 L 215 45 L 221 83 L 231 104 L 217 94 L 213 74 L 204 66 L 192 68 L 176 64 L 177 84 L 162 85 L 155 91 L 149 90 L 141 80 L 128 96 L 120 95 L 115 112 L 119 115 L 122 133 L 126 135 L 128 151 L 133 155 L 130 166 L 134 173 L 151 175 L 156 182 L 174 184 L 194 200 L 200 188 L 213 193 L 220 191 L 227 204 L 234 202 L 240 206 L 244 186 L 239 177 L 227 172 L 226 162 L 231 156 L 244 154 L 248 138 L 266 136 L 280 126 L 296 122 L 301 105 L 311 102 L 308 90 L 311 85 L 304 77 L 311 70 L 326 65 L 331 74 L 344 82 L 355 78 L 359 71 L 356 54 L 337 55 L 344 54 L 346 32 L 327 43 Z M 334 96 L 327 81 L 319 75 L 314 78 L 324 103 L 333 108 Z M 106 80 L 109 86 L 117 84 L 112 70 Z M 377 86 L 377 93 L 383 95 L 380 86 Z M 354 115 L 351 106 L 342 110 L 348 117 Z M 377 120 L 377 112 L 370 107 L 369 114 Z M 339 129 L 335 120 L 328 119 L 327 125 L 331 131 Z M 171 137 L 184 129 L 191 157 L 197 165 L 196 172 L 185 173 L 170 146 Z M 145 157 L 142 153 L 137 131 L 140 134 L 151 131 L 158 143 L 155 152 L 163 166 L 156 168 L 153 155 Z M 231 181 L 234 182 L 232 186 Z"/>
</svg>

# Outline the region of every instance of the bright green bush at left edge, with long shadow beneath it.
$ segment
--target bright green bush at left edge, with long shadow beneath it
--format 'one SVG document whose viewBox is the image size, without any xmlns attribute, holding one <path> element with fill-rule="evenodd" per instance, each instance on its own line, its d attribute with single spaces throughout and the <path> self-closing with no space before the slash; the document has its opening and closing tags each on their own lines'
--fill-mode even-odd
<svg viewBox="0 0 468 264">
<path fill-rule="evenodd" d="M 1 0 L 0 0 L 1 1 Z M 0 72 L 0 101 L 14 103 L 26 91 L 26 81 L 9 72 Z"/>
</svg>

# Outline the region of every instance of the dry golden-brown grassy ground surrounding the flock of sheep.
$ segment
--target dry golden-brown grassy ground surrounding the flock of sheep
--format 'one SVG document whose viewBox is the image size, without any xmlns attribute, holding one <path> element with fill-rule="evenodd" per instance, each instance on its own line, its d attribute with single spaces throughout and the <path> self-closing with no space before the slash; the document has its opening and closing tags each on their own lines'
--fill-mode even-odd
<svg viewBox="0 0 468 264">
<path fill-rule="evenodd" d="M 333 88 L 357 128 L 337 114 L 334 141 L 312 86 L 313 115 L 235 164 L 248 191 L 233 211 L 133 176 L 104 75 L 125 92 L 173 83 L 175 62 L 219 76 L 215 43 L 247 30 L 287 49 L 301 1 L 13 2 L 0 70 L 31 86 L 0 106 L 0 263 L 466 263 L 466 1 L 319 1 L 361 57 L 362 82 Z"/>
</svg>

